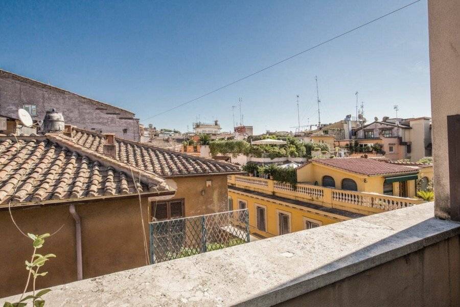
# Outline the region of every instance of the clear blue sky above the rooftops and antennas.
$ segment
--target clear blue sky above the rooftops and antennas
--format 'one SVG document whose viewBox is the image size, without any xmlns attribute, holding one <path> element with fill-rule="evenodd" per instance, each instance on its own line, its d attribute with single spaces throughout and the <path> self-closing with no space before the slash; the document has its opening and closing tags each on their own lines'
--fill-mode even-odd
<svg viewBox="0 0 460 307">
<path fill-rule="evenodd" d="M 141 120 L 397 9 L 410 0 L 39 2 L 0 0 L 0 68 L 131 110 Z M 422 1 L 365 28 L 143 121 L 186 130 L 198 116 L 257 133 L 355 114 L 430 116 Z M 236 118 L 239 118 L 236 109 Z"/>
</svg>

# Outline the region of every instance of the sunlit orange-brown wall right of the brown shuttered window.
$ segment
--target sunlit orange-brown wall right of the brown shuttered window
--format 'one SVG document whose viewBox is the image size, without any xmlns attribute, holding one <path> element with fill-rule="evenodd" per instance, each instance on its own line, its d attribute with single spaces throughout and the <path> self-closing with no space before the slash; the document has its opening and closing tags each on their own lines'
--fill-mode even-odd
<svg viewBox="0 0 460 307">
<path fill-rule="evenodd" d="M 206 187 L 208 180 L 211 187 Z M 174 199 L 185 199 L 186 216 L 227 211 L 226 175 L 170 178 L 167 182 L 176 189 Z"/>
</svg>

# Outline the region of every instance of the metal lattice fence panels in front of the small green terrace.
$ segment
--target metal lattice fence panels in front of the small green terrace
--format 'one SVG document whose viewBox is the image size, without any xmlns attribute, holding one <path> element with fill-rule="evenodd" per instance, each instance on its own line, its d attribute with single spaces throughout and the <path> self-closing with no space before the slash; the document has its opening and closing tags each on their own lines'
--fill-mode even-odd
<svg viewBox="0 0 460 307">
<path fill-rule="evenodd" d="M 249 242 L 247 209 L 149 223 L 150 263 Z"/>
</svg>

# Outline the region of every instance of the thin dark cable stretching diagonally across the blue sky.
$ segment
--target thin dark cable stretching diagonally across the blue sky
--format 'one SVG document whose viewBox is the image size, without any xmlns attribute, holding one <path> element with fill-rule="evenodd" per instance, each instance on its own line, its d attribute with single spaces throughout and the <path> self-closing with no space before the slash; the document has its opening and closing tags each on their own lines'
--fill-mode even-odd
<svg viewBox="0 0 460 307">
<path fill-rule="evenodd" d="M 211 91 L 211 92 L 208 92 L 208 93 L 206 93 L 206 94 L 203 94 L 203 95 L 201 95 L 201 96 L 199 96 L 199 97 L 196 97 L 196 98 L 194 98 L 194 99 L 192 99 L 192 100 L 183 102 L 183 103 L 178 104 L 178 105 L 176 105 L 176 106 L 173 106 L 173 107 L 171 107 L 171 108 L 169 108 L 169 109 L 167 109 L 167 110 L 165 110 L 165 111 L 163 111 L 163 112 L 160 112 L 160 113 L 158 113 L 158 114 L 155 114 L 155 115 L 153 115 L 153 116 L 147 117 L 147 118 L 143 119 L 142 121 L 146 121 L 146 120 L 148 120 L 148 119 L 151 119 L 151 118 L 157 117 L 157 116 L 159 116 L 159 115 L 165 114 L 165 113 L 167 113 L 167 112 L 173 111 L 174 109 L 179 108 L 179 107 L 181 107 L 181 106 L 183 106 L 183 105 L 189 104 L 189 103 L 194 102 L 194 101 L 196 101 L 196 100 L 198 100 L 198 99 L 201 99 L 201 98 L 203 98 L 203 97 L 206 97 L 206 96 L 208 96 L 208 95 L 211 95 L 211 94 L 213 94 L 213 93 L 216 93 L 217 91 L 223 90 L 223 89 L 225 89 L 225 87 L 228 87 L 228 86 L 233 85 L 233 84 L 235 84 L 235 83 L 237 83 L 237 82 L 240 82 L 240 81 L 242 81 L 242 80 L 244 80 L 244 79 L 247 79 L 247 78 L 249 78 L 249 77 L 252 77 L 252 76 L 254 76 L 254 75 L 257 75 L 257 74 L 259 74 L 259 73 L 261 73 L 261 72 L 263 72 L 263 71 L 266 71 L 267 69 L 270 69 L 270 68 L 272 68 L 272 67 L 274 67 L 274 66 L 276 66 L 276 65 L 278 65 L 278 64 L 281 64 L 281 63 L 286 62 L 286 61 L 288 61 L 288 60 L 290 60 L 290 59 L 292 59 L 292 58 L 294 58 L 294 57 L 296 57 L 296 56 L 299 56 L 299 55 L 304 54 L 304 53 L 306 53 L 306 52 L 308 52 L 308 51 L 310 51 L 310 50 L 313 50 L 313 49 L 315 49 L 315 48 L 318 48 L 319 46 L 325 45 L 325 43 L 328 43 L 328 42 L 330 42 L 330 41 L 332 41 L 332 40 L 334 40 L 334 39 L 337 39 L 337 38 L 339 38 L 339 37 L 341 37 L 341 36 L 343 36 L 343 35 L 347 35 L 347 34 L 353 32 L 353 31 L 356 31 L 356 30 L 362 28 L 362 27 L 365 27 L 365 26 L 367 26 L 367 25 L 369 25 L 369 24 L 372 24 L 372 23 L 374 23 L 374 22 L 377 21 L 377 20 L 380 20 L 380 19 L 382 19 L 382 18 L 384 18 L 384 17 L 386 17 L 386 16 L 388 16 L 388 15 L 391 15 L 391 14 L 394 14 L 394 13 L 396 13 L 396 12 L 398 12 L 398 11 L 401 11 L 402 9 L 405 9 L 405 8 L 407 8 L 407 7 L 409 7 L 409 6 L 413 5 L 413 4 L 416 4 L 416 3 L 420 2 L 420 1 L 422 1 L 422 0 L 417 0 L 417 1 L 411 2 L 411 3 L 409 3 L 409 4 L 407 4 L 407 5 L 403 6 L 403 7 L 400 7 L 399 9 L 396 9 L 396 10 L 394 10 L 394 11 L 391 11 L 391 12 L 389 12 L 389 13 L 386 13 L 386 14 L 380 16 L 380 17 L 377 17 L 377 18 L 375 18 L 375 19 L 372 19 L 371 21 L 367 21 L 367 23 L 365 23 L 365 24 L 362 24 L 362 25 L 360 25 L 360 26 L 358 26 L 358 27 L 355 27 L 355 28 L 353 28 L 353 29 L 351 29 L 351 30 L 348 30 L 348 31 L 346 31 L 346 32 L 343 32 L 343 33 L 341 33 L 341 34 L 339 34 L 339 35 L 336 35 L 336 36 L 334 36 L 334 37 L 332 37 L 332 38 L 329 38 L 329 39 L 327 39 L 327 40 L 325 40 L 325 41 L 323 41 L 323 42 L 318 43 L 317 45 L 315 45 L 315 46 L 313 46 L 313 47 L 310 47 L 310 48 L 308 48 L 308 49 L 306 49 L 306 50 L 304 50 L 304 51 L 301 51 L 301 52 L 298 52 L 298 53 L 296 53 L 296 54 L 294 54 L 294 55 L 291 55 L 290 57 L 287 57 L 287 58 L 285 58 L 285 59 L 283 59 L 283 60 L 281 60 L 281 61 L 278 61 L 278 62 L 276 62 L 276 63 L 273 63 L 273 64 L 271 64 L 271 65 L 269 65 L 269 66 L 267 66 L 267 67 L 265 67 L 265 68 L 263 68 L 263 69 L 261 69 L 261 70 L 258 70 L 258 71 L 254 72 L 254 73 L 252 73 L 252 74 L 249 74 L 249 75 L 247 75 L 247 76 L 244 76 L 244 77 L 242 77 L 242 78 L 240 78 L 240 79 L 237 79 L 237 80 L 235 80 L 235 81 L 233 81 L 233 82 L 227 83 L 227 84 L 225 84 L 225 85 L 219 87 L 218 89 L 215 89 L 215 90 L 213 90 L 213 91 Z"/>
</svg>

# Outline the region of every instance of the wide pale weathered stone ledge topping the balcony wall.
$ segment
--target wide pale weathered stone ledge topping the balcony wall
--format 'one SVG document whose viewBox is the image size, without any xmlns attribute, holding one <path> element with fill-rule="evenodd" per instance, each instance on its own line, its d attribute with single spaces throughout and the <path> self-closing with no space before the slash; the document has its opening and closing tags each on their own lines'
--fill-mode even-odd
<svg viewBox="0 0 460 307">
<path fill-rule="evenodd" d="M 44 298 L 50 306 L 283 303 L 460 234 L 459 223 L 433 210 L 426 203 L 63 284 Z M 458 267 L 458 251 L 451 257 Z"/>
</svg>

